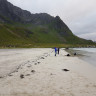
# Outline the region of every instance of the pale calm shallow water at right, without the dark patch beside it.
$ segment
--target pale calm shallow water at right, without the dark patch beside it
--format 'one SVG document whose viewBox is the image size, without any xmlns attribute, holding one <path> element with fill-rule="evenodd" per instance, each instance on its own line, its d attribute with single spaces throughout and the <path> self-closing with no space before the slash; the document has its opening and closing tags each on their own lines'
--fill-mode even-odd
<svg viewBox="0 0 96 96">
<path fill-rule="evenodd" d="M 77 54 L 83 55 L 79 56 L 80 59 L 96 67 L 96 48 L 72 48 L 72 50 Z"/>
</svg>

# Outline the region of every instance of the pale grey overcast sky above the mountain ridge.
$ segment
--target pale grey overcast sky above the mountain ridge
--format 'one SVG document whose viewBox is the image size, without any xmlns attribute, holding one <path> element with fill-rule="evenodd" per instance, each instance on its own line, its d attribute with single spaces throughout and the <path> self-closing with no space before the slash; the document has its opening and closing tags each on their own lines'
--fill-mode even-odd
<svg viewBox="0 0 96 96">
<path fill-rule="evenodd" d="M 72 32 L 96 41 L 96 0 L 8 0 L 31 13 L 59 15 Z"/>
</svg>

